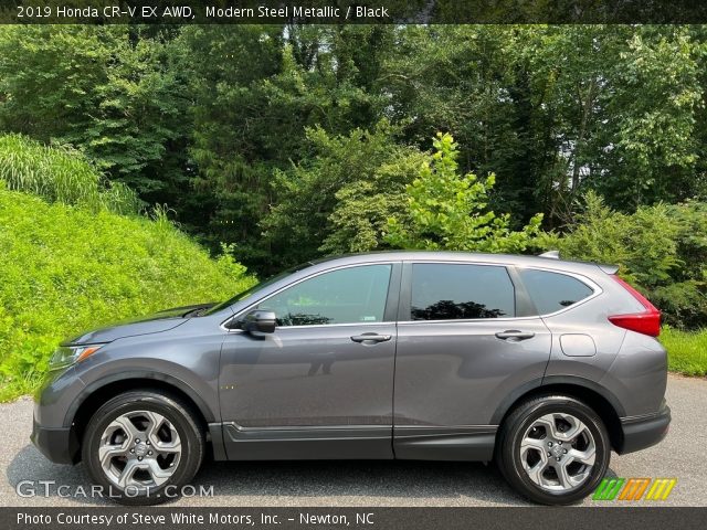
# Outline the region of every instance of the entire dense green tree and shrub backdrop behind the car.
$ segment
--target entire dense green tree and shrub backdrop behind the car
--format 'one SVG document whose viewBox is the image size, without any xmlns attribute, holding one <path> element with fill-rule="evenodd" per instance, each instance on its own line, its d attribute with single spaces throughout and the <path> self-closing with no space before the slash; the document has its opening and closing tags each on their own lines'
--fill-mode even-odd
<svg viewBox="0 0 707 530">
<path fill-rule="evenodd" d="M 391 246 L 559 247 L 699 327 L 706 51 L 699 25 L 6 25 L 0 132 L 25 156 L 3 178 L 48 197 L 91 174 L 107 203 L 127 186 L 263 275 Z M 27 138 L 84 161 L 40 186 Z M 532 242 L 539 214 L 552 235 Z"/>
</svg>

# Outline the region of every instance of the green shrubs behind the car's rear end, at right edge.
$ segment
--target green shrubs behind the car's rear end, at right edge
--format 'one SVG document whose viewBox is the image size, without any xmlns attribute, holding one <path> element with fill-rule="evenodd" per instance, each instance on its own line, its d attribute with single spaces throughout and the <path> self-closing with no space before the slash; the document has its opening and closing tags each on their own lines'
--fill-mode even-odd
<svg viewBox="0 0 707 530">
<path fill-rule="evenodd" d="M 678 328 L 707 322 L 707 204 L 655 204 L 633 214 L 588 193 L 569 231 L 544 234 L 545 248 L 566 258 L 611 263 Z"/>
</svg>

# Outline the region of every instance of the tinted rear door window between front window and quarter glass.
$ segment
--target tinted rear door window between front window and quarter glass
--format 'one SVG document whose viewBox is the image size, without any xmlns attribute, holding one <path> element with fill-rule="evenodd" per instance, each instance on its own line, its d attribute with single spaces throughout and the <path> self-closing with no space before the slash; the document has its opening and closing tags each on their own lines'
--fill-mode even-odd
<svg viewBox="0 0 707 530">
<path fill-rule="evenodd" d="M 513 283 L 505 267 L 415 264 L 412 320 L 515 316 Z"/>
</svg>

